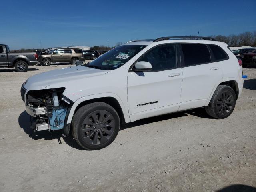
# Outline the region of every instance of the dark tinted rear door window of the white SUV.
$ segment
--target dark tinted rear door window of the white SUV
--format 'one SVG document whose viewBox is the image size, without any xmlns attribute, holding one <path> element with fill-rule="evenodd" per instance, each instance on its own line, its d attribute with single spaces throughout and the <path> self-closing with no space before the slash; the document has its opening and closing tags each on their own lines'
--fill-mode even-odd
<svg viewBox="0 0 256 192">
<path fill-rule="evenodd" d="M 181 44 L 184 66 L 211 62 L 210 52 L 206 44 Z"/>
</svg>

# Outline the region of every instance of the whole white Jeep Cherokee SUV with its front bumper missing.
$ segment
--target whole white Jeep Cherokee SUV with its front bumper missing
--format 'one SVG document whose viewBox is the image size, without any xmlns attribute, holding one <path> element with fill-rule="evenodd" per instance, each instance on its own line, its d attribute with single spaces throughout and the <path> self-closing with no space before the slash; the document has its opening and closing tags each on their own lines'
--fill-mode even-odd
<svg viewBox="0 0 256 192">
<path fill-rule="evenodd" d="M 200 39 L 200 40 L 199 40 Z M 21 96 L 34 129 L 71 131 L 87 150 L 108 146 L 120 124 L 205 107 L 226 118 L 242 92 L 242 62 L 209 37 L 134 40 L 89 64 L 24 82 Z"/>
</svg>

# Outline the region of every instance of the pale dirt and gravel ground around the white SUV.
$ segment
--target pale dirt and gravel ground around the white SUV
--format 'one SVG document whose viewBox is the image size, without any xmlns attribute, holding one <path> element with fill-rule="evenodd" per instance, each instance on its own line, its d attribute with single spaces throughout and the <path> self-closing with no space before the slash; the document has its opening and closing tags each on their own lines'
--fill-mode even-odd
<svg viewBox="0 0 256 192">
<path fill-rule="evenodd" d="M 107 148 L 86 151 L 61 131 L 33 134 L 20 98 L 28 77 L 66 66 L 0 68 L 1 192 L 256 190 L 256 68 L 244 69 L 227 119 L 204 109 L 148 118 L 127 124 Z"/>
</svg>

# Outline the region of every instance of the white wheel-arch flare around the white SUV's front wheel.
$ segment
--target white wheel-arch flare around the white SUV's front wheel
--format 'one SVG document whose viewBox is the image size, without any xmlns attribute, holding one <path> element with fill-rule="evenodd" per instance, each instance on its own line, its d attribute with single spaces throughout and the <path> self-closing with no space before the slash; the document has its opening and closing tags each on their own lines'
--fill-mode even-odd
<svg viewBox="0 0 256 192">
<path fill-rule="evenodd" d="M 84 102 L 84 101 L 87 101 L 87 100 L 91 100 L 91 99 L 96 99 L 96 98 L 103 98 L 103 97 L 112 97 L 112 98 L 115 98 L 118 103 L 120 104 L 120 107 L 122 108 L 122 111 L 123 111 L 123 114 L 124 114 L 124 119 L 125 119 L 125 122 L 128 123 L 130 122 L 130 117 L 129 117 L 129 114 L 128 114 L 128 106 L 127 104 L 125 105 L 121 98 L 114 94 L 114 93 L 100 93 L 100 94 L 93 94 L 93 95 L 88 95 L 88 96 L 84 96 L 84 97 L 81 97 L 79 98 L 78 100 L 76 100 L 74 102 L 74 104 L 72 105 L 71 109 L 70 109 L 70 112 L 68 114 L 68 119 L 67 119 L 67 122 L 66 124 L 70 124 L 71 121 L 72 121 L 72 118 L 73 118 L 73 115 L 74 115 L 74 112 L 76 110 L 76 107 Z"/>
</svg>

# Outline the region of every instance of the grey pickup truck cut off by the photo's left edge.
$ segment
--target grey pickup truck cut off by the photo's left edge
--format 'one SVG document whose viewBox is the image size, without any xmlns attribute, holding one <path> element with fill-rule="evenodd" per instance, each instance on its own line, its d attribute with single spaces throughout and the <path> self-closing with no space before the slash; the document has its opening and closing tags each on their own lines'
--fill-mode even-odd
<svg viewBox="0 0 256 192">
<path fill-rule="evenodd" d="M 0 67 L 15 67 L 16 72 L 25 72 L 29 65 L 37 64 L 38 54 L 11 53 L 8 45 L 0 44 Z"/>
</svg>

